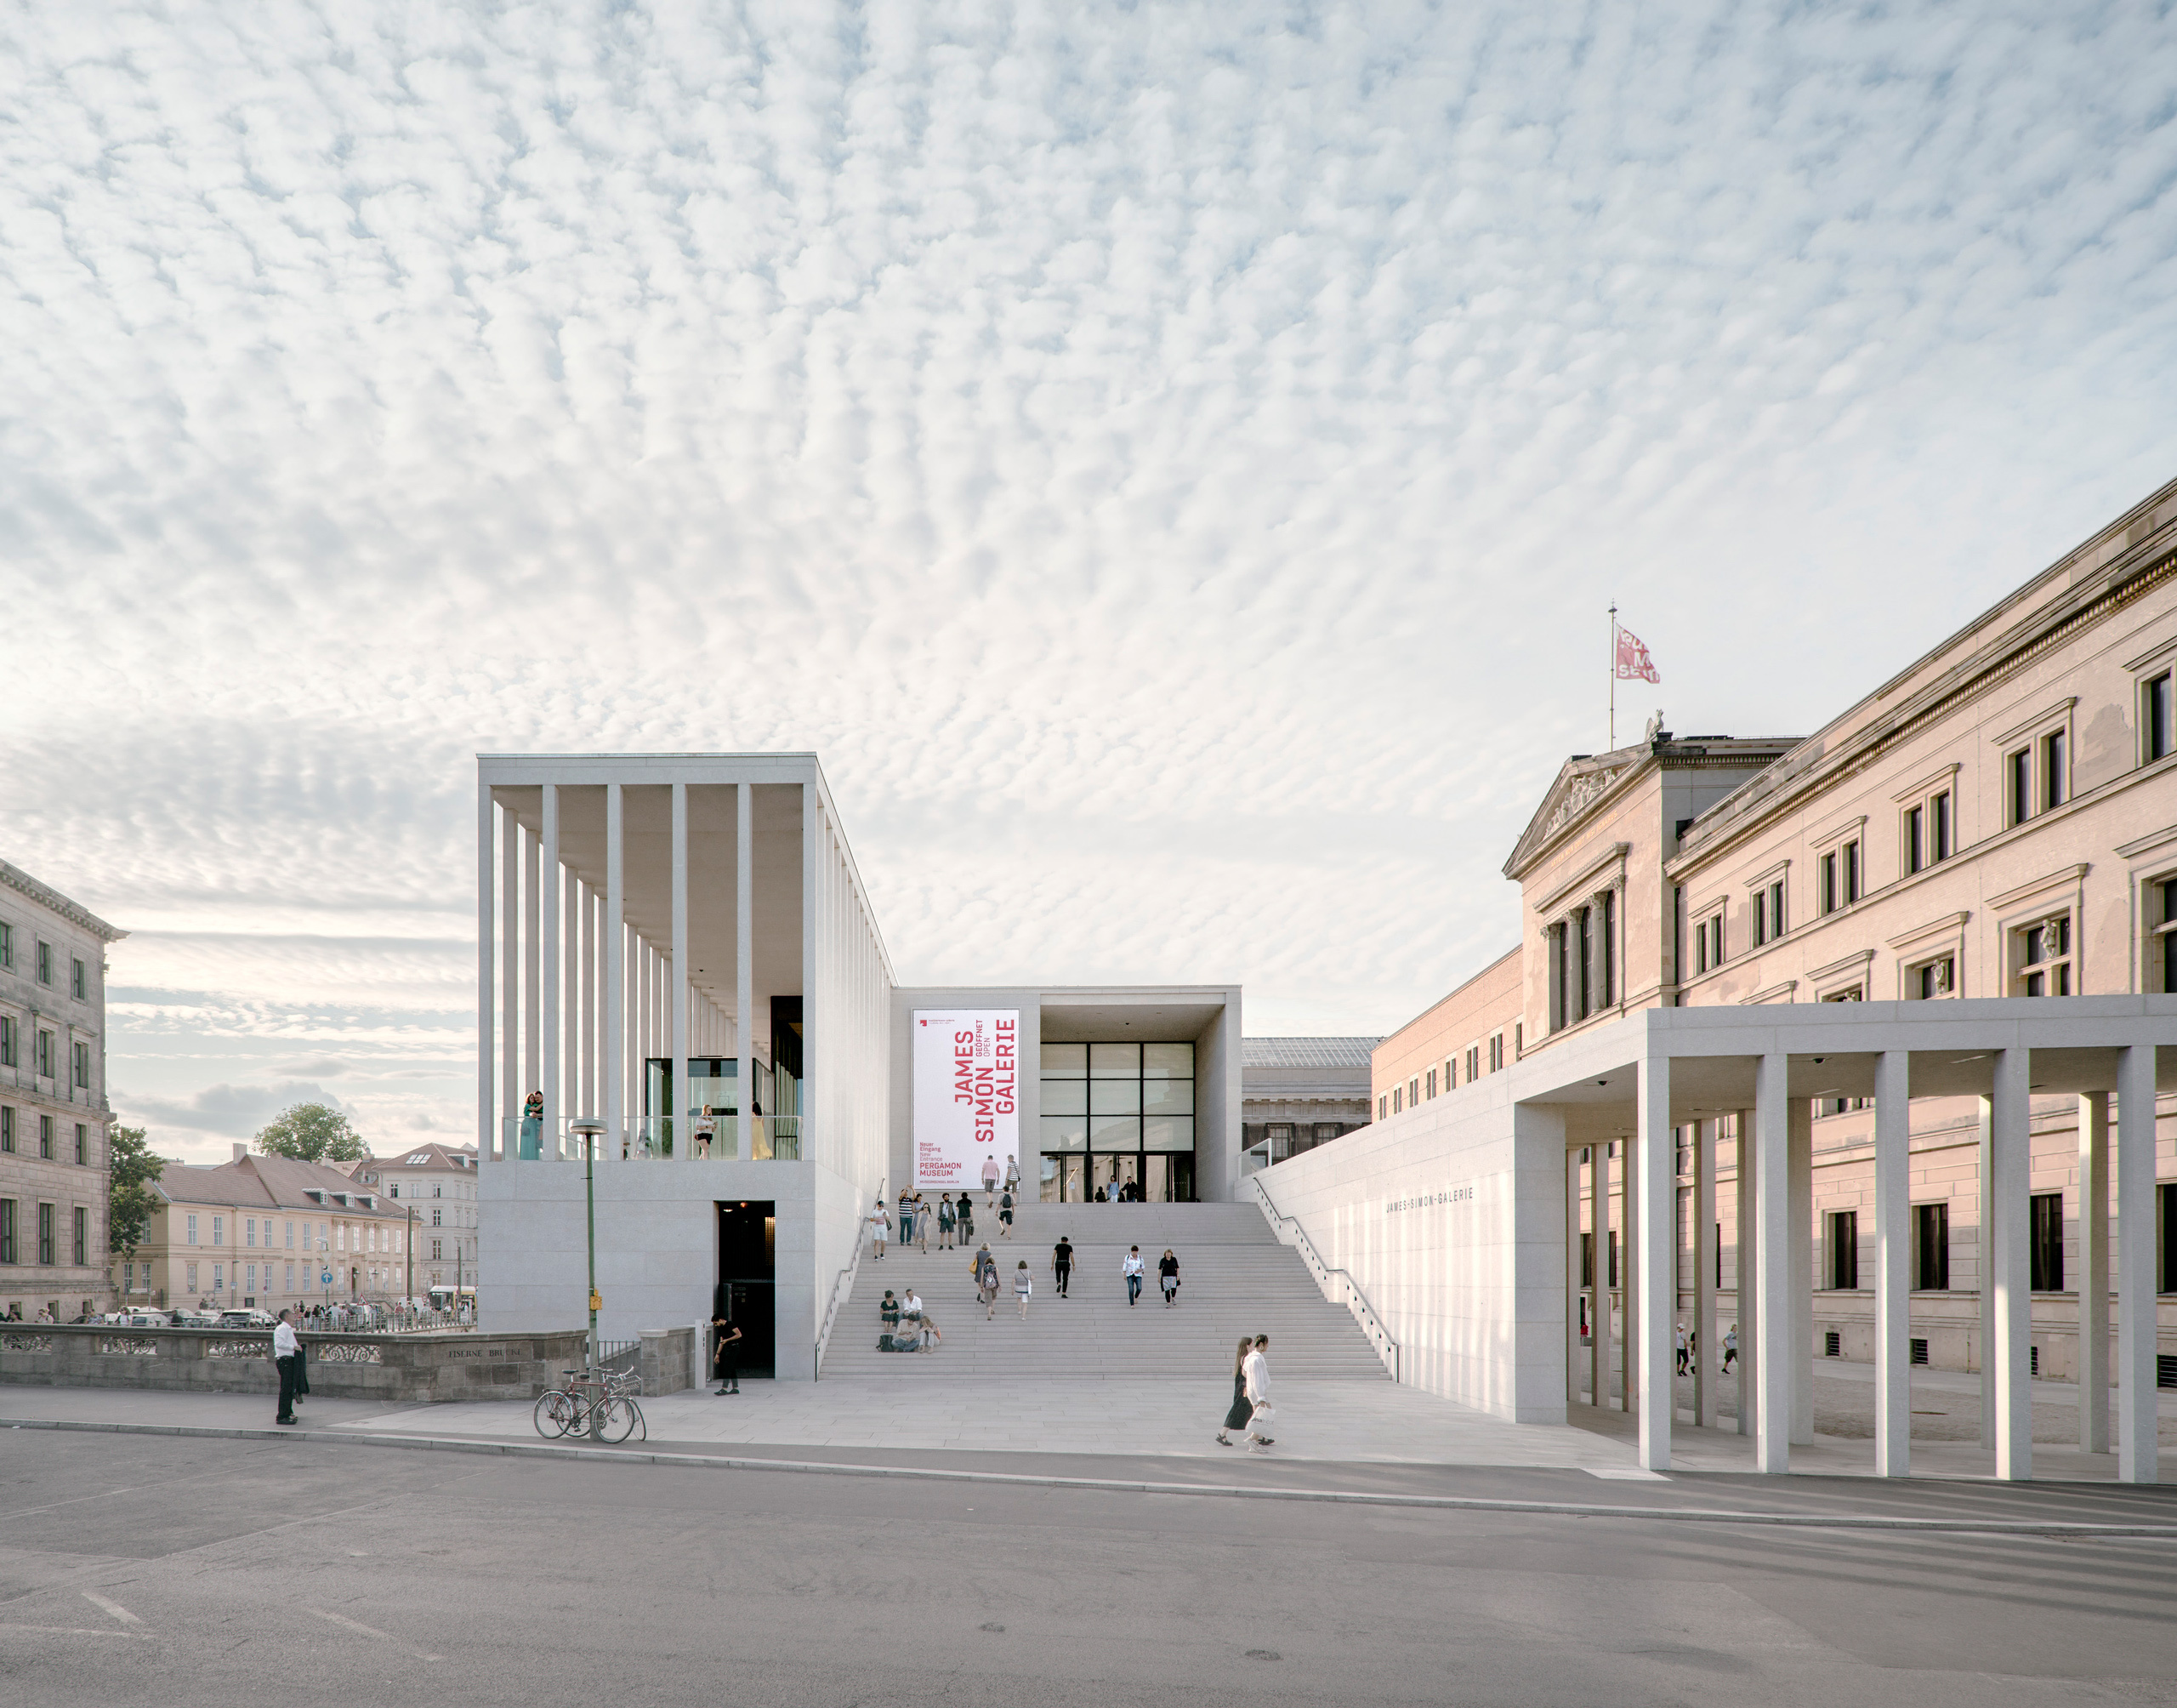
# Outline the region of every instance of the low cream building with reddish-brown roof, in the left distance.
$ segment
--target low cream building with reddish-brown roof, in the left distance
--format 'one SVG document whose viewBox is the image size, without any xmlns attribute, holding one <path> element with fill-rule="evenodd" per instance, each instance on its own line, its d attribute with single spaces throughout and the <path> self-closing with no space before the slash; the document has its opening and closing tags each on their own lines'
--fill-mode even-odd
<svg viewBox="0 0 2177 1708">
<path fill-rule="evenodd" d="M 327 1163 L 250 1155 L 168 1163 L 122 1303 L 174 1309 L 340 1305 L 407 1292 L 407 1207 Z"/>
</svg>

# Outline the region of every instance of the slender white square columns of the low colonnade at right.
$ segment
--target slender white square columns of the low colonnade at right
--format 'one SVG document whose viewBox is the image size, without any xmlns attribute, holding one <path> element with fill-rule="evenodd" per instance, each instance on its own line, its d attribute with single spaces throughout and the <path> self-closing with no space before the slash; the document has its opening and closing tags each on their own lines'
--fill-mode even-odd
<svg viewBox="0 0 2177 1708">
<path fill-rule="evenodd" d="M 2120 1481 L 2155 1481 L 2155 1046 L 2114 1048 L 2114 1085 L 2079 1091 L 2079 1444 L 2116 1444 Z M 2033 1050 L 1988 1052 L 1981 1120 L 1981 1322 L 1983 1442 L 1996 1477 L 2033 1473 L 2031 1401 L 2031 1089 Z M 1820 1059 L 1816 1059 L 1820 1061 Z M 1567 1394 L 1587 1357 L 1596 1405 L 1611 1392 L 1611 1179 L 1624 1235 L 1624 1410 L 1639 1414 L 1639 1462 L 1670 1466 L 1674 1329 L 1678 1320 L 1678 1128 L 1672 1124 L 1668 1054 L 1635 1065 L 1635 1133 L 1567 1152 L 1567 1301 L 1581 1296 L 1581 1194 L 1589 1200 L 1591 1335 L 1578 1344 L 1578 1305 L 1567 1303 Z M 1752 1107 L 1687 1124 L 1694 1144 L 1694 1292 L 1700 1357 L 1694 1418 L 1718 1416 L 1715 1150 L 1726 1122 L 1737 1146 L 1737 1429 L 1752 1436 L 1755 1466 L 1783 1473 L 1792 1444 L 1813 1440 L 1813 1111 L 1789 1094 L 1792 1057 L 1752 1059 Z M 1911 1052 L 1881 1050 L 1874 1070 L 1874 1462 L 1883 1477 L 1911 1473 Z M 2112 1091 L 2118 1231 L 2110 1237 Z M 1583 1168 L 1585 1157 L 1585 1168 Z M 2116 1294 L 2116 1416 L 2110 1416 L 2110 1290 Z M 2114 1423 L 2114 1429 L 2112 1429 Z"/>
</svg>

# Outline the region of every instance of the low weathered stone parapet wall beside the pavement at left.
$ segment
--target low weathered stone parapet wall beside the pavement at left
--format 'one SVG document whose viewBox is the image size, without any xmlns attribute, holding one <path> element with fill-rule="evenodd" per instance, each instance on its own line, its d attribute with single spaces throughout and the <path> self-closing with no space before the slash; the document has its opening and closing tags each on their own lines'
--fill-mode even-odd
<svg viewBox="0 0 2177 1708">
<path fill-rule="evenodd" d="M 305 1333 L 300 1340 L 311 1394 L 388 1405 L 536 1399 L 557 1383 L 562 1370 L 583 1362 L 581 1329 L 525 1335 Z M 279 1370 L 272 1366 L 270 1331 L 9 1325 L 0 1331 L 0 1386 L 9 1383 L 276 1394 Z"/>
</svg>

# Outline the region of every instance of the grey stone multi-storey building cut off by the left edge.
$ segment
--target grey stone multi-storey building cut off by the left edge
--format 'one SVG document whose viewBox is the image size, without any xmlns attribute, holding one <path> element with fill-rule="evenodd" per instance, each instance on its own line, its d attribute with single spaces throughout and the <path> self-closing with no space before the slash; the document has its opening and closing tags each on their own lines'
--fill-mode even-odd
<svg viewBox="0 0 2177 1708">
<path fill-rule="evenodd" d="M 107 1309 L 107 943 L 0 861 L 0 1314 Z"/>
</svg>

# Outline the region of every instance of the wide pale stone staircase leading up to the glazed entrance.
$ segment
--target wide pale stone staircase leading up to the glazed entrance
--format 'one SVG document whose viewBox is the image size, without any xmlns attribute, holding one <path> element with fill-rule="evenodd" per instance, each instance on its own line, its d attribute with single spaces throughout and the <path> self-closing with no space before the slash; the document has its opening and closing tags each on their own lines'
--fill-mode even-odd
<svg viewBox="0 0 2177 1708">
<path fill-rule="evenodd" d="M 1232 1375 L 1241 1333 L 1267 1333 L 1278 1379 L 1387 1379 L 1382 1359 L 1343 1305 L 1324 1298 L 1300 1253 L 1280 1246 L 1254 1205 L 1023 1205 L 1012 1237 L 975 1198 L 969 1250 L 893 1244 L 886 1259 L 862 1253 L 853 1294 L 840 1307 L 823 1375 L 853 1379 L 958 1381 L 1143 1381 Z M 1067 1298 L 1051 1279 L 1051 1246 L 1073 1242 Z M 988 1244 L 999 1268 L 997 1316 L 984 1320 L 969 1259 Z M 1147 1274 L 1128 1307 L 1119 1264 L 1139 1244 Z M 1156 1259 L 1180 1259 L 1180 1303 L 1165 1307 Z M 1012 1298 L 1014 1264 L 1036 1281 L 1028 1320 Z M 886 1288 L 914 1288 L 945 1333 L 936 1353 L 880 1353 Z"/>
</svg>

